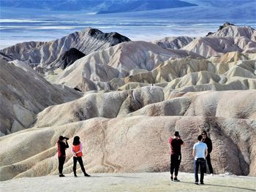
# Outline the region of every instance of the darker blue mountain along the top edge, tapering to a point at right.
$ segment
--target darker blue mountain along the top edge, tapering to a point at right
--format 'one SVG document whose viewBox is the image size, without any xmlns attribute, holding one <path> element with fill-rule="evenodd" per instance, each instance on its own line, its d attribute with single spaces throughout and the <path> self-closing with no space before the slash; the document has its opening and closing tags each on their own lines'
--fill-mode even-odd
<svg viewBox="0 0 256 192">
<path fill-rule="evenodd" d="M 179 0 L 1 0 L 1 7 L 48 9 L 52 11 L 90 10 L 100 13 L 133 12 L 173 7 L 189 7 L 196 4 Z"/>
</svg>

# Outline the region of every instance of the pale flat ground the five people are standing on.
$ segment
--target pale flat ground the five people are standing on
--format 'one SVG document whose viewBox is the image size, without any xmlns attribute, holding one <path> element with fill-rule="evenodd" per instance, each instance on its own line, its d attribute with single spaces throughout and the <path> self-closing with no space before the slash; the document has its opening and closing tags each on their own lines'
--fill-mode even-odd
<svg viewBox="0 0 256 192">
<path fill-rule="evenodd" d="M 91 177 L 24 177 L 0 182 L 1 191 L 256 191 L 256 177 L 219 174 L 205 177 L 206 185 L 195 185 L 194 174 L 181 172 L 181 182 L 170 181 L 170 173 L 92 174 Z"/>
</svg>

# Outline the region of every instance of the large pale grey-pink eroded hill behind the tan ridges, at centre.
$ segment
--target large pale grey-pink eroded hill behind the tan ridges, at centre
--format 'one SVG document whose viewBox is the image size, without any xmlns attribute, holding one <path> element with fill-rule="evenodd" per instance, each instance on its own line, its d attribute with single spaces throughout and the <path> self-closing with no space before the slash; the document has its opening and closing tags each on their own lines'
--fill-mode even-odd
<svg viewBox="0 0 256 192">
<path fill-rule="evenodd" d="M 139 75 L 170 58 L 184 57 L 200 58 L 200 55 L 187 50 L 166 50 L 149 42 L 124 42 L 80 58 L 52 82 L 81 91 L 97 90 L 97 87 L 99 90 L 110 89 L 104 82 Z"/>
</svg>

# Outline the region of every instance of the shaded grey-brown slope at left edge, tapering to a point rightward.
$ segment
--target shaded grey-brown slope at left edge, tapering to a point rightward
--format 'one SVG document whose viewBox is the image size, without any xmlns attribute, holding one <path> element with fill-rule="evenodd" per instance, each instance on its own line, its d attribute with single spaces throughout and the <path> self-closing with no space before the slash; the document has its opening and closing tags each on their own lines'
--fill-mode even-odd
<svg viewBox="0 0 256 192">
<path fill-rule="evenodd" d="M 29 128 L 45 107 L 78 99 L 81 93 L 51 85 L 21 61 L 0 60 L 0 134 Z"/>
</svg>

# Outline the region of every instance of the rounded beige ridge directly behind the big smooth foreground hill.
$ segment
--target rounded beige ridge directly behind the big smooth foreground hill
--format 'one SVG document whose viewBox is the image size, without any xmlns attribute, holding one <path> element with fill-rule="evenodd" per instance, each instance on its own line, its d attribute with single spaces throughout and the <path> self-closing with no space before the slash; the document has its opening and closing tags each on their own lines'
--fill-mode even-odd
<svg viewBox="0 0 256 192">
<path fill-rule="evenodd" d="M 182 96 L 177 98 L 173 98 L 174 93 L 170 85 L 165 88 L 150 86 L 132 91 L 89 93 L 67 104 L 46 108 L 37 116 L 35 126 L 59 126 L 96 117 L 126 115 L 256 118 L 255 90 L 178 92 Z M 226 98 L 230 98 L 229 101 Z"/>
</svg>

